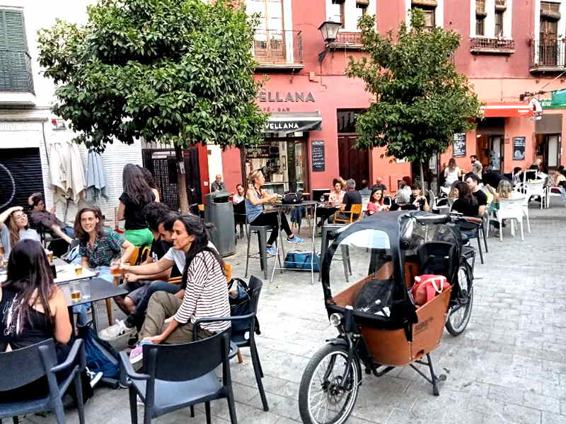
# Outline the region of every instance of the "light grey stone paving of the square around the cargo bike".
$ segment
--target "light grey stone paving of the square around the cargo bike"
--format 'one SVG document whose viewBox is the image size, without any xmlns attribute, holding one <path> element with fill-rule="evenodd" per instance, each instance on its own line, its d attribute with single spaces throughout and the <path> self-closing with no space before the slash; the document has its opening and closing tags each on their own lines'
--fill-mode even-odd
<svg viewBox="0 0 566 424">
<path fill-rule="evenodd" d="M 504 240 L 488 240 L 485 264 L 475 266 L 475 300 L 468 328 L 459 337 L 446 331 L 432 354 L 437 371 L 448 379 L 440 396 L 432 396 L 427 382 L 409 367 L 388 375 L 366 377 L 348 423 L 566 423 L 566 209 L 540 211 L 531 204 L 531 233 L 521 242 L 509 228 Z M 301 232 L 304 235 L 305 231 Z M 316 240 L 317 245 L 320 239 Z M 473 240 L 475 244 L 475 240 Z M 255 245 L 255 241 L 254 241 Z M 289 245 L 287 245 L 289 247 Z M 243 276 L 246 244 L 226 258 L 234 275 Z M 302 247 L 304 249 L 304 247 Z M 258 263 L 251 273 L 261 276 Z M 99 306 L 100 322 L 105 310 Z M 266 281 L 260 299 L 262 335 L 257 338 L 270 411 L 261 408 L 248 352 L 244 363 L 231 370 L 240 423 L 299 421 L 299 381 L 308 359 L 332 336 L 319 283 L 308 273 L 276 274 Z M 190 358 L 187 358 L 190 365 Z M 228 422 L 225 401 L 212 403 L 213 423 Z M 141 412 L 139 413 L 141 419 Z M 158 423 L 204 423 L 204 408 L 196 418 L 181 410 Z M 78 422 L 76 411 L 68 421 Z M 129 422 L 127 390 L 99 387 L 86 405 L 86 423 Z M 28 423 L 51 423 L 52 416 L 28 416 Z"/>
</svg>

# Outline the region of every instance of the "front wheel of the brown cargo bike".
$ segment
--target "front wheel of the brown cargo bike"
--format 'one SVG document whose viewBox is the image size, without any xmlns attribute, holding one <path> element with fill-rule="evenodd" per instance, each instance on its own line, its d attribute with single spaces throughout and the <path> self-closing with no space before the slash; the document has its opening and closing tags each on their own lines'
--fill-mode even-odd
<svg viewBox="0 0 566 424">
<path fill-rule="evenodd" d="M 347 360 L 345 346 L 326 344 L 308 361 L 299 386 L 303 423 L 341 424 L 350 416 L 361 376 L 359 367 L 352 362 L 346 388 L 341 387 Z"/>
</svg>

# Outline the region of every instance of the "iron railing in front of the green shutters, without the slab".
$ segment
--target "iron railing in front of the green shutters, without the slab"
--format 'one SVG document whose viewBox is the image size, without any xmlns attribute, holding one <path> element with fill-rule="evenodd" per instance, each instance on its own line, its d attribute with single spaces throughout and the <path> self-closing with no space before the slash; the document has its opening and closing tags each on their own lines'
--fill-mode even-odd
<svg viewBox="0 0 566 424">
<path fill-rule="evenodd" d="M 34 93 L 28 52 L 0 49 L 0 91 Z"/>
</svg>

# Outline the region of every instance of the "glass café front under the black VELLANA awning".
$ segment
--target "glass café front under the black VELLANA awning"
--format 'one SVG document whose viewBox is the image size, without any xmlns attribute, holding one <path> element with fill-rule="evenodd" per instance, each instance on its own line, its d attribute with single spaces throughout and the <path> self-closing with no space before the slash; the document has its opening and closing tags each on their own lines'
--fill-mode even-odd
<svg viewBox="0 0 566 424">
<path fill-rule="evenodd" d="M 271 193 L 305 192 L 306 141 L 304 139 L 263 139 L 246 148 L 245 174 L 262 170 L 265 176 L 264 189 Z"/>
</svg>

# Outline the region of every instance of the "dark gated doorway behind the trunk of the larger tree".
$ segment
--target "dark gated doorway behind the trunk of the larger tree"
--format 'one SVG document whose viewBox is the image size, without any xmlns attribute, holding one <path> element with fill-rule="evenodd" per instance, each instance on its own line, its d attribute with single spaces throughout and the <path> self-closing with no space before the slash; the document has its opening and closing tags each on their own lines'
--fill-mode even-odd
<svg viewBox="0 0 566 424">
<path fill-rule="evenodd" d="M 178 211 L 180 200 L 175 150 L 172 148 L 144 148 L 141 151 L 141 157 L 144 167 L 154 175 L 161 202 L 169 206 L 171 211 Z M 183 158 L 185 159 L 189 205 L 202 204 L 198 148 L 187 148 L 183 151 Z"/>
</svg>

